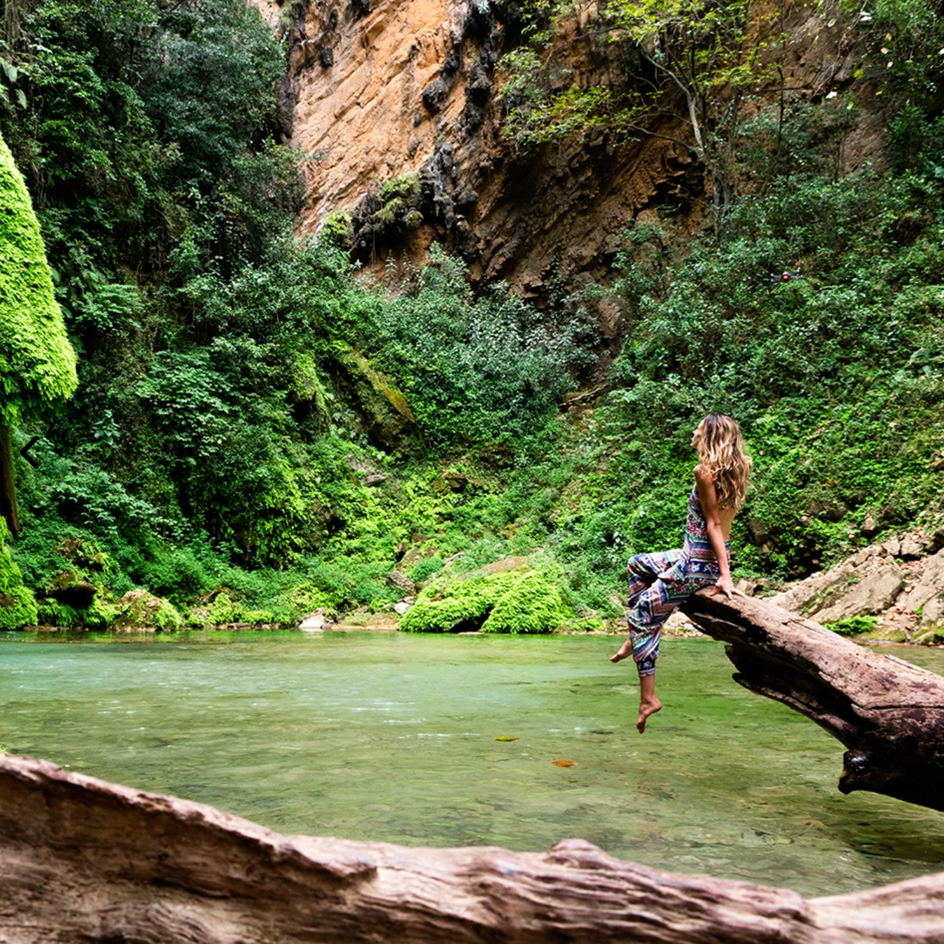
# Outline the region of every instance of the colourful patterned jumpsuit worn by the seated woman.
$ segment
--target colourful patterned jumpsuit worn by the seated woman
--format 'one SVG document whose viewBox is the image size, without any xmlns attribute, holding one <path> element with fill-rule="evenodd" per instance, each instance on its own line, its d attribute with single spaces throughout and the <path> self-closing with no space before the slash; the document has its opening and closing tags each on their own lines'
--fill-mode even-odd
<svg viewBox="0 0 944 944">
<path fill-rule="evenodd" d="M 726 541 L 724 548 L 730 562 L 731 542 Z M 688 497 L 683 548 L 636 554 L 630 558 L 627 570 L 632 658 L 640 675 L 652 675 L 663 623 L 696 590 L 710 586 L 721 576 L 697 487 Z"/>
</svg>

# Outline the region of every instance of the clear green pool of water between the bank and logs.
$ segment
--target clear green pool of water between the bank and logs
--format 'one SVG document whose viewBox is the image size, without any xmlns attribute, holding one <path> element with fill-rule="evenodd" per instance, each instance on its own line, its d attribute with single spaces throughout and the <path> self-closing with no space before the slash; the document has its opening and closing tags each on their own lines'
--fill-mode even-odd
<svg viewBox="0 0 944 944">
<path fill-rule="evenodd" d="M 644 735 L 606 637 L 0 640 L 10 749 L 283 833 L 515 850 L 581 836 L 804 895 L 944 868 L 944 814 L 842 796 L 838 742 L 733 683 L 708 639 L 664 643 L 665 708 Z M 944 674 L 944 650 L 894 651 Z"/>
</svg>

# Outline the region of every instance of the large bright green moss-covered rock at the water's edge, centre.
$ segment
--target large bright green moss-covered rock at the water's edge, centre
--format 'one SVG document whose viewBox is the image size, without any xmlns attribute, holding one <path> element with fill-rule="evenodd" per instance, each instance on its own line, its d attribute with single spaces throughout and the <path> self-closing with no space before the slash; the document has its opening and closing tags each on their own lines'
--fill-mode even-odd
<svg viewBox="0 0 944 944">
<path fill-rule="evenodd" d="M 552 632 L 572 614 L 557 586 L 529 567 L 433 582 L 403 616 L 408 632 Z"/>
</svg>

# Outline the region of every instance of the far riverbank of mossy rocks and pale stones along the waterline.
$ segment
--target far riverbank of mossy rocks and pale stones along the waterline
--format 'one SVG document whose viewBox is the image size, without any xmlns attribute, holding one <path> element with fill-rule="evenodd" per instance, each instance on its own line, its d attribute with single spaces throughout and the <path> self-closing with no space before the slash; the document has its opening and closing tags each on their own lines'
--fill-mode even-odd
<svg viewBox="0 0 944 944">
<path fill-rule="evenodd" d="M 335 614 L 319 607 L 300 619 L 273 619 L 270 612 L 247 610 L 249 618 L 234 619 L 232 616 L 241 612 L 239 604 L 230 598 L 226 587 L 221 587 L 191 608 L 185 618 L 168 601 L 138 589 L 128 591 L 114 603 L 99 604 L 99 609 L 102 605 L 110 609 L 107 620 L 90 620 L 78 626 L 42 623 L 8 629 L 120 633 L 178 632 L 187 628 L 226 632 L 478 632 L 484 628 L 488 632 L 491 626 L 485 625 L 487 618 L 500 603 L 511 613 L 502 625 L 519 627 L 511 632 L 613 636 L 628 632 L 625 617 L 571 610 L 559 595 L 560 575 L 539 556 L 502 558 L 472 570 L 459 569 L 460 558 L 456 555 L 444 562 L 427 583 L 414 583 L 401 571 L 392 571 L 387 581 L 401 586 L 403 597 L 387 604 L 390 609 L 379 611 L 362 605 Z M 861 642 L 944 645 L 944 525 L 886 537 L 801 581 L 777 583 L 742 576 L 736 586 L 750 597 L 768 598 Z M 551 596 L 556 599 L 548 607 Z M 621 603 L 615 596 L 611 602 L 614 607 Z M 298 612 L 297 598 L 290 596 L 286 603 L 294 603 Z M 426 615 L 414 619 L 417 606 L 426 607 L 433 618 Z M 447 615 L 443 616 L 446 606 Z M 686 638 L 700 632 L 684 615 L 675 613 L 667 621 L 664 634 Z"/>
</svg>

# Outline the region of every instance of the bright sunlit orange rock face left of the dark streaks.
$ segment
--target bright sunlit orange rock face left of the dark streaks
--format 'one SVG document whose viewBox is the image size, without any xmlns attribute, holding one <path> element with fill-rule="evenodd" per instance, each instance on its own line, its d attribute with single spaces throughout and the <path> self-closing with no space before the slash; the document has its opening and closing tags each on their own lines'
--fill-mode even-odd
<svg viewBox="0 0 944 944">
<path fill-rule="evenodd" d="M 417 174 L 430 159 L 437 128 L 458 120 L 461 82 L 442 96 L 435 119 L 422 96 L 462 44 L 465 6 L 457 0 L 325 0 L 306 5 L 293 21 L 288 5 L 256 3 L 289 38 L 292 143 L 308 155 L 302 221 L 317 230 L 329 211 L 353 207 L 371 187 Z"/>
</svg>

